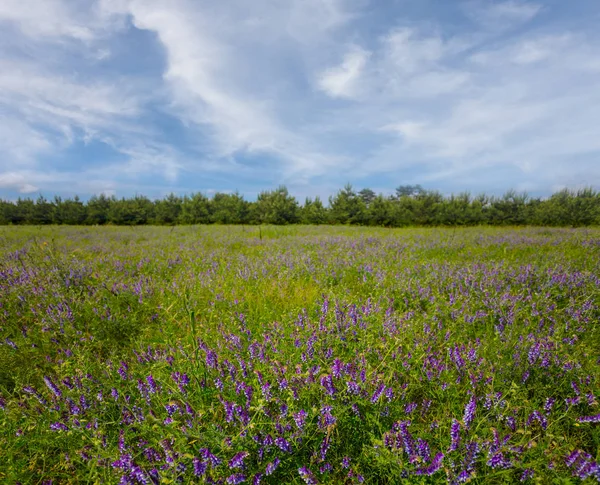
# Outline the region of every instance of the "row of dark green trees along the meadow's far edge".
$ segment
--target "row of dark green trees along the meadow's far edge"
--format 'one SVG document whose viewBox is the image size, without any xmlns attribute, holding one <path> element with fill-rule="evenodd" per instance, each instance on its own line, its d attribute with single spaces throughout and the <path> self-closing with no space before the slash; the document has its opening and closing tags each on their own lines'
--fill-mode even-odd
<svg viewBox="0 0 600 485">
<path fill-rule="evenodd" d="M 170 194 L 151 200 L 142 195 L 117 199 L 105 195 L 82 201 L 77 196 L 47 200 L 0 200 L 0 224 L 175 225 L 175 224 L 354 224 L 364 226 L 600 224 L 600 193 L 592 188 L 561 190 L 542 199 L 514 190 L 503 196 L 468 193 L 444 196 L 420 185 L 403 185 L 394 194 L 356 191 L 346 185 L 324 204 L 307 198 L 304 204 L 285 186 L 261 192 L 247 201 L 238 192 L 207 197 Z"/>
</svg>

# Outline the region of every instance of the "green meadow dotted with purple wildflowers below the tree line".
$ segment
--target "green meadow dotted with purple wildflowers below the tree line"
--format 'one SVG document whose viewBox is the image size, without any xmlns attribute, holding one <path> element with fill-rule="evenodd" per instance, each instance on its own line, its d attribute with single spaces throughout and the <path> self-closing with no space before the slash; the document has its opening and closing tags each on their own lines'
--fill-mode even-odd
<svg viewBox="0 0 600 485">
<path fill-rule="evenodd" d="M 0 482 L 596 483 L 600 230 L 0 228 Z"/>
</svg>

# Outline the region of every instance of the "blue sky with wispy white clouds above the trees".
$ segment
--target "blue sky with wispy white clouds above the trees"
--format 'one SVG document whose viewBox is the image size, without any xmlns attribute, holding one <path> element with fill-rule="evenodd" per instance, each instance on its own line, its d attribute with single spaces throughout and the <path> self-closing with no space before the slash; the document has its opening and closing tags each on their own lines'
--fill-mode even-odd
<svg viewBox="0 0 600 485">
<path fill-rule="evenodd" d="M 2 0 L 0 198 L 600 189 L 598 0 Z"/>
</svg>

